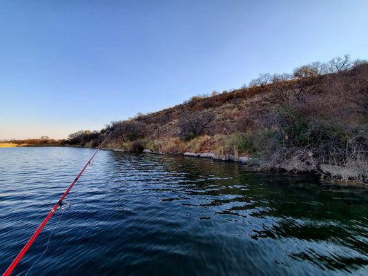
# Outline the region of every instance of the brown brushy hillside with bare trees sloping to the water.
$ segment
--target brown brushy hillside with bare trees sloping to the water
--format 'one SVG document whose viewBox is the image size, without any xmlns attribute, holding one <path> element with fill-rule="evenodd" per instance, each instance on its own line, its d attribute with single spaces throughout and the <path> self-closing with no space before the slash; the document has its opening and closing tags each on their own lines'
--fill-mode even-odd
<svg viewBox="0 0 368 276">
<path fill-rule="evenodd" d="M 368 63 L 338 57 L 293 75 L 261 74 L 238 90 L 193 97 L 101 131 L 81 130 L 68 143 L 95 147 L 113 132 L 108 148 L 248 157 L 249 166 L 367 184 L 367 91 Z"/>
</svg>

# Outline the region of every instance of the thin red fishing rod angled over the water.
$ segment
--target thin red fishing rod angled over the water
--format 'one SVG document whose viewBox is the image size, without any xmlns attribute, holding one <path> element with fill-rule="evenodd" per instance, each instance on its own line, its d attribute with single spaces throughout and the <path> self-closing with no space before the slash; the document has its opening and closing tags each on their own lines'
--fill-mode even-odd
<svg viewBox="0 0 368 276">
<path fill-rule="evenodd" d="M 3 276 L 8 276 L 8 275 L 10 275 L 10 273 L 12 273 L 12 270 L 14 270 L 14 268 L 17 266 L 17 264 L 21 261 L 21 258 L 26 254 L 27 250 L 30 248 L 30 246 L 33 244 L 33 242 L 35 242 L 35 239 L 37 238 L 37 236 L 41 232 L 42 228 L 45 227 L 45 225 L 48 223 L 49 219 L 52 217 L 52 215 L 54 215 L 55 210 L 57 209 L 57 207 L 60 206 L 60 208 L 62 208 L 62 206 L 64 204 L 67 204 L 66 202 L 63 202 L 63 199 L 66 197 L 66 195 L 68 195 L 70 189 L 72 188 L 72 186 L 74 186 L 75 182 L 77 182 L 77 180 L 79 179 L 79 177 L 81 176 L 81 174 L 84 172 L 84 170 L 86 170 L 87 166 L 91 164 L 90 161 L 92 161 L 93 157 L 95 157 L 95 155 L 97 154 L 97 152 L 99 151 L 99 149 L 101 148 L 101 146 L 103 144 L 105 144 L 105 142 L 107 141 L 107 139 L 108 139 L 108 137 L 110 136 L 111 133 L 112 132 L 110 132 L 106 136 L 106 138 L 104 139 L 104 141 L 102 141 L 101 145 L 99 145 L 99 147 L 97 148 L 95 154 L 90 158 L 90 160 L 87 162 L 86 166 L 84 166 L 83 170 L 81 170 L 81 172 L 79 172 L 79 175 L 74 179 L 74 181 L 72 182 L 72 184 L 69 186 L 68 190 L 66 190 L 66 192 L 64 193 L 64 195 L 61 197 L 61 199 L 55 205 L 55 207 L 52 208 L 50 214 L 48 214 L 48 216 L 46 217 L 46 219 L 39 226 L 39 228 L 37 229 L 37 231 L 35 232 L 35 234 L 33 234 L 33 236 L 30 238 L 30 240 L 28 241 L 28 243 L 26 244 L 26 246 L 23 247 L 23 249 L 18 254 L 18 256 L 14 259 L 14 261 L 12 262 L 12 264 L 10 264 L 10 266 L 8 267 L 8 269 L 6 270 L 6 272 L 3 274 Z M 70 204 L 67 204 L 67 205 L 70 206 Z"/>
</svg>

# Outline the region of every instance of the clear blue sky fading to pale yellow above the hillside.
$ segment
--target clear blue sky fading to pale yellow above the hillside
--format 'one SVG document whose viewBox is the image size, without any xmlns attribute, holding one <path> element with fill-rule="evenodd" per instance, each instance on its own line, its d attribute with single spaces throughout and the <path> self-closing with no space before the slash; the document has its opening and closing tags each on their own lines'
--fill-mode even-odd
<svg viewBox="0 0 368 276">
<path fill-rule="evenodd" d="M 0 0 L 0 139 L 66 138 L 350 54 L 368 1 Z"/>
</svg>

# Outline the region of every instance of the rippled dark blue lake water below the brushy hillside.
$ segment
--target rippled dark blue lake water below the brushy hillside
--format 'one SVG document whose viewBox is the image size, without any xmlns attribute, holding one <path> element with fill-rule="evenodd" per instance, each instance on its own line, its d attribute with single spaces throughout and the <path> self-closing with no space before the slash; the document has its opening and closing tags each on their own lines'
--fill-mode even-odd
<svg viewBox="0 0 368 276">
<path fill-rule="evenodd" d="M 94 152 L 0 148 L 0 273 Z M 14 275 L 368 275 L 361 187 L 100 151 L 66 201 Z"/>
</svg>

